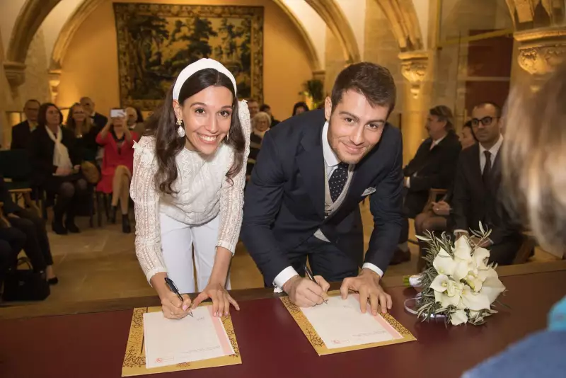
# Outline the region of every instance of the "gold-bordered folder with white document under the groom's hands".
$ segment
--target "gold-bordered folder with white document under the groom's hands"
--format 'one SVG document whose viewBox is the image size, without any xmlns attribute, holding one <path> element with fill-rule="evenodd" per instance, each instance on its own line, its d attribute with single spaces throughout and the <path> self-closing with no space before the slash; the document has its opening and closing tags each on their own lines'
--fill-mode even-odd
<svg viewBox="0 0 566 378">
<path fill-rule="evenodd" d="M 296 307 L 287 297 L 282 302 L 318 355 L 416 340 L 389 314 L 374 316 L 369 308 L 362 314 L 358 294 L 347 299 L 330 294 L 328 303 L 306 308 Z"/>
</svg>

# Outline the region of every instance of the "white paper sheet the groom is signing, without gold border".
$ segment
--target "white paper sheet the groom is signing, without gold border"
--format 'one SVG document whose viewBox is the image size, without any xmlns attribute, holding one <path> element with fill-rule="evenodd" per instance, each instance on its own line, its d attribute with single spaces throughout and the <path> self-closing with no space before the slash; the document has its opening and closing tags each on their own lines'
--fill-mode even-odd
<svg viewBox="0 0 566 378">
<path fill-rule="evenodd" d="M 326 348 L 380 343 L 403 338 L 381 315 L 371 311 L 362 314 L 357 294 L 328 298 L 328 304 L 301 308 L 308 321 L 324 341 Z"/>
</svg>

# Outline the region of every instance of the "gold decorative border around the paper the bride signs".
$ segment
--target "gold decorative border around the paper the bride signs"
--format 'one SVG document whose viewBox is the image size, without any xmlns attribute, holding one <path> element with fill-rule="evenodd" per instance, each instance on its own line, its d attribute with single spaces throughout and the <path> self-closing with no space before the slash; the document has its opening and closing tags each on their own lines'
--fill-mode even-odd
<svg viewBox="0 0 566 378">
<path fill-rule="evenodd" d="M 201 306 L 210 306 L 210 303 Z M 240 349 L 236 342 L 236 333 L 230 316 L 222 316 L 221 321 L 226 329 L 226 334 L 234 350 L 233 355 L 211 358 L 194 362 L 185 362 L 177 365 L 146 368 L 146 356 L 144 348 L 144 314 L 146 312 L 161 311 L 161 307 L 142 307 L 134 309 L 132 324 L 129 328 L 128 343 L 124 363 L 122 364 L 122 377 L 132 377 L 134 375 L 179 372 L 182 370 L 204 369 L 206 367 L 219 367 L 227 365 L 238 365 L 242 363 Z"/>
</svg>

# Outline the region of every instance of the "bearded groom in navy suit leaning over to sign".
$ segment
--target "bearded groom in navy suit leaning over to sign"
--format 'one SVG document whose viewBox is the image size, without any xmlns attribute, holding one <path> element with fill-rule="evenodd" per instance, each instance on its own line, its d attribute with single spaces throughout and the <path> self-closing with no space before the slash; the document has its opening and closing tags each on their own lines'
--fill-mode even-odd
<svg viewBox="0 0 566 378">
<path fill-rule="evenodd" d="M 327 281 L 343 280 L 342 297 L 359 292 L 362 312 L 368 300 L 374 314 L 378 303 L 391 309 L 379 282 L 403 222 L 401 134 L 386 122 L 394 105 L 389 71 L 362 62 L 340 72 L 324 110 L 265 134 L 246 189 L 241 238 L 265 284 L 294 304 L 320 304 Z M 359 202 L 368 195 L 374 231 L 364 258 Z M 318 285 L 301 277 L 307 258 Z"/>
</svg>

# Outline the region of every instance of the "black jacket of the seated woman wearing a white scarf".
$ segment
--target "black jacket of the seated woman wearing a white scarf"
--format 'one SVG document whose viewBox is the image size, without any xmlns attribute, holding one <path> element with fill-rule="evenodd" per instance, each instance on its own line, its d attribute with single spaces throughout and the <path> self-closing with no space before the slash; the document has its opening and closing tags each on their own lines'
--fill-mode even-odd
<svg viewBox="0 0 566 378">
<path fill-rule="evenodd" d="M 81 150 L 77 147 L 74 133 L 61 127 L 63 133 L 61 142 L 69 151 L 71 163 L 75 166 L 81 164 Z M 51 140 L 45 127 L 38 126 L 33 130 L 30 139 L 30 160 L 32 165 L 32 182 L 35 185 L 42 185 L 47 179 L 52 178 L 57 171 L 57 166 L 53 165 L 53 149 L 55 142 Z"/>
</svg>

